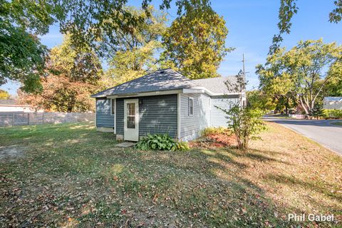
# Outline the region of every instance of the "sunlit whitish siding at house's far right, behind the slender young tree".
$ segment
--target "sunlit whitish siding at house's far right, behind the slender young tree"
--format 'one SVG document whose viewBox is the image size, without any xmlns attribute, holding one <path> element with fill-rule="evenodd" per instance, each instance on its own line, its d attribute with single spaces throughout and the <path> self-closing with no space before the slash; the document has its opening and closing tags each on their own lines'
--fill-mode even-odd
<svg viewBox="0 0 342 228">
<path fill-rule="evenodd" d="M 239 95 L 230 95 L 228 97 L 226 96 L 212 97 L 210 125 L 212 127 L 226 127 L 227 115 L 222 110 L 219 110 L 215 106 L 219 108 L 227 109 L 229 108 L 229 105 L 231 105 L 232 103 L 237 103 L 237 102 L 239 102 Z"/>
</svg>

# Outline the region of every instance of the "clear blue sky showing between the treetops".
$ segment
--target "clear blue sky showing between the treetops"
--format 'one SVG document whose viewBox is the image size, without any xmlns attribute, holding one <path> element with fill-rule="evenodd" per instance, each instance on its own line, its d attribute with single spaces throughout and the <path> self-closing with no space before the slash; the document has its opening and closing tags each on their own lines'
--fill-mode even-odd
<svg viewBox="0 0 342 228">
<path fill-rule="evenodd" d="M 140 0 L 130 4 L 140 6 Z M 159 6 L 160 1 L 152 0 Z M 299 12 L 292 20 L 291 33 L 284 36 L 283 46 L 291 48 L 300 40 L 323 38 L 326 43 L 336 41 L 342 44 L 342 22 L 331 24 L 328 14 L 334 8 L 333 0 L 298 0 Z M 255 72 L 258 63 L 264 63 L 271 38 L 277 33 L 279 0 L 212 0 L 212 8 L 224 17 L 229 30 L 226 46 L 236 48 L 228 53 L 219 67 L 222 76 L 234 75 L 242 68 L 242 54 L 246 59 L 247 88 L 257 88 L 259 81 Z M 172 21 L 177 16 L 175 6 L 168 10 Z M 58 26 L 51 26 L 50 32 L 41 37 L 41 42 L 52 48 L 62 42 Z M 7 83 L 0 88 L 16 94 L 19 83 Z"/>
</svg>

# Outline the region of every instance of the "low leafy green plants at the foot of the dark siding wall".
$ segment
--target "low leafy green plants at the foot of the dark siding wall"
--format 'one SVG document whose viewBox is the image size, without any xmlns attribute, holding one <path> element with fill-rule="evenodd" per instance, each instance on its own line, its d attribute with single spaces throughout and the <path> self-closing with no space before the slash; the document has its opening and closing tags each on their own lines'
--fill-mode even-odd
<svg viewBox="0 0 342 228">
<path fill-rule="evenodd" d="M 189 150 L 187 142 L 176 142 L 169 135 L 147 135 L 136 145 L 139 150 Z"/>
</svg>

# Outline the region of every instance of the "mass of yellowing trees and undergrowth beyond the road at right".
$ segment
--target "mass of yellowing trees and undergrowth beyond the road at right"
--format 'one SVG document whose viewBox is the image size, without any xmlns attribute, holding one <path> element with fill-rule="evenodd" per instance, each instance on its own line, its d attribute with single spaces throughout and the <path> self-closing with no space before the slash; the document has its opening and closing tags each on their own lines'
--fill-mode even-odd
<svg viewBox="0 0 342 228">
<path fill-rule="evenodd" d="M 257 74 L 259 90 L 249 92 L 256 107 L 316 115 L 325 96 L 342 96 L 342 46 L 299 41 L 289 51 L 278 48 L 269 55 Z"/>
</svg>

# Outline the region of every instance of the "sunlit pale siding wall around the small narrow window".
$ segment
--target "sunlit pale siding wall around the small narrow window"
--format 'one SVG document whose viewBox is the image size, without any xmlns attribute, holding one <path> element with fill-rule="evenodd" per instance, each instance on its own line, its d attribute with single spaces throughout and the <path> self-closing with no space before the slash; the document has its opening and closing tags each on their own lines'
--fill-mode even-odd
<svg viewBox="0 0 342 228">
<path fill-rule="evenodd" d="M 189 115 L 189 98 L 194 99 L 194 115 Z M 193 140 L 200 136 L 204 128 L 209 127 L 209 95 L 205 93 L 180 94 L 180 138 Z"/>
</svg>

